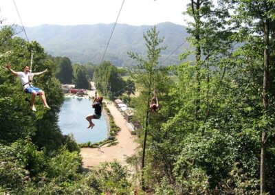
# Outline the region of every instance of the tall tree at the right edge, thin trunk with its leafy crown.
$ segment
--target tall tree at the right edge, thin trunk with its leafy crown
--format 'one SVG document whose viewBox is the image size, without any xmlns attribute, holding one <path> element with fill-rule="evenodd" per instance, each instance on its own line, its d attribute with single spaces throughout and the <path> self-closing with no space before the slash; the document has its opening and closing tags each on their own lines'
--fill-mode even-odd
<svg viewBox="0 0 275 195">
<path fill-rule="evenodd" d="M 270 40 L 270 38 L 272 38 L 275 26 L 275 22 L 272 21 L 275 3 L 267 0 L 250 0 L 236 1 L 235 5 L 236 27 L 239 27 L 240 32 L 239 41 L 261 51 L 259 56 L 263 60 L 263 112 L 261 114 L 263 118 L 269 120 L 270 116 L 274 114 L 270 112 L 270 101 L 273 97 L 270 91 L 270 54 L 272 47 L 274 48 L 274 40 Z M 269 131 L 269 126 L 261 128 L 261 194 L 266 192 L 266 152 Z"/>
</svg>

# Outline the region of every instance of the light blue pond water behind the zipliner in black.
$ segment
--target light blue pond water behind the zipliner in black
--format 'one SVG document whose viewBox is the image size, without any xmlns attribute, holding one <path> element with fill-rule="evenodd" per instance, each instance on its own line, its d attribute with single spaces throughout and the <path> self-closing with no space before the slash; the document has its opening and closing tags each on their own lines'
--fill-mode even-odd
<svg viewBox="0 0 275 195">
<path fill-rule="evenodd" d="M 72 133 L 78 144 L 95 143 L 107 139 L 107 121 L 102 114 L 100 119 L 93 119 L 94 128 L 88 129 L 87 115 L 94 113 L 91 101 L 85 98 L 65 98 L 59 113 L 58 125 L 63 135 Z"/>
</svg>

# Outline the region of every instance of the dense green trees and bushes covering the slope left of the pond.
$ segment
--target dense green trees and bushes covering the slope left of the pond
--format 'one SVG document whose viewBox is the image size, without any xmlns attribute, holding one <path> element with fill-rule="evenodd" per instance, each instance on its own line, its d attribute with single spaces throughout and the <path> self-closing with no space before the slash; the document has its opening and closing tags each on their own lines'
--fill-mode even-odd
<svg viewBox="0 0 275 195">
<path fill-rule="evenodd" d="M 80 148 L 71 135 L 61 134 L 57 123 L 64 99 L 55 78 L 58 59 L 38 43 L 13 35 L 11 27 L 0 30 L 0 194 L 129 194 L 128 173 L 117 162 L 83 172 Z M 4 68 L 10 64 L 14 71 L 23 71 L 30 65 L 31 51 L 32 71 L 48 69 L 35 76 L 33 84 L 45 91 L 50 110 L 37 100 L 37 111 L 31 111 L 19 78 Z"/>
</svg>

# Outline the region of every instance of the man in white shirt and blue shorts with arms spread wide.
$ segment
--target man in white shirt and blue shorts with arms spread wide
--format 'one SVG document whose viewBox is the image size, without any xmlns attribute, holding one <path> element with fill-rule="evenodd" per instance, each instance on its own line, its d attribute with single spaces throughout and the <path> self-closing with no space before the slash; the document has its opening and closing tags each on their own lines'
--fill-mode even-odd
<svg viewBox="0 0 275 195">
<path fill-rule="evenodd" d="M 5 67 L 7 69 L 9 69 L 10 72 L 14 76 L 19 76 L 19 78 L 21 80 L 21 84 L 22 84 L 23 89 L 24 89 L 24 92 L 32 94 L 32 98 L 31 98 L 31 101 L 30 101 L 30 108 L 31 108 L 32 111 L 36 111 L 36 108 L 34 106 L 36 95 L 40 96 L 40 98 L 43 102 L 44 108 L 50 109 L 50 106 L 48 106 L 48 104 L 47 104 L 47 100 L 46 100 L 46 97 L 45 97 L 45 92 L 42 91 L 41 89 L 37 88 L 37 87 L 33 87 L 32 84 L 31 84 L 31 80 L 30 80 L 30 78 L 33 78 L 33 76 L 39 76 L 39 75 L 47 72 L 47 69 L 45 69 L 45 71 L 39 72 L 39 73 L 30 73 L 30 67 L 28 67 L 28 66 L 24 67 L 23 72 L 14 71 L 13 69 L 10 68 L 11 65 L 6 65 Z"/>
</svg>

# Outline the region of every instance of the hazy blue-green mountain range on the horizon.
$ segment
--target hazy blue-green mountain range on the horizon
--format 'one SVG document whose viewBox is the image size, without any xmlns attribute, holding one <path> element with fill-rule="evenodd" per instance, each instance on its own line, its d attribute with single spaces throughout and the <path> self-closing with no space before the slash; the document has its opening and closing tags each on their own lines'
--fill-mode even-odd
<svg viewBox="0 0 275 195">
<path fill-rule="evenodd" d="M 85 64 L 91 62 L 99 64 L 102 60 L 109 60 L 118 67 L 136 64 L 129 58 L 127 51 L 133 51 L 146 59 L 146 46 L 143 34 L 150 30 L 150 25 L 133 26 L 116 24 L 107 47 L 114 24 L 96 25 L 39 25 L 25 27 L 30 41 L 37 41 L 45 51 L 52 56 L 67 56 L 72 62 Z M 188 36 L 186 27 L 166 22 L 156 25 L 159 38 L 164 37 L 159 63 L 170 65 L 179 63 L 179 54 L 189 47 L 185 42 Z M 23 33 L 18 36 L 25 38 Z"/>
</svg>

